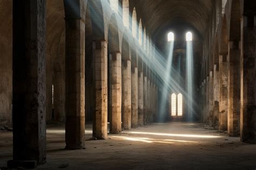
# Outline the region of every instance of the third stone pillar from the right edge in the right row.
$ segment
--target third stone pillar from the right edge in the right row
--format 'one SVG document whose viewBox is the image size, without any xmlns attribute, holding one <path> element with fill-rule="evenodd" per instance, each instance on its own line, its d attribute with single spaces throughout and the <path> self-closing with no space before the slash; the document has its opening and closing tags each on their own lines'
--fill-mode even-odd
<svg viewBox="0 0 256 170">
<path fill-rule="evenodd" d="M 220 98 L 219 98 L 219 130 L 227 130 L 227 56 L 220 55 Z"/>
</svg>

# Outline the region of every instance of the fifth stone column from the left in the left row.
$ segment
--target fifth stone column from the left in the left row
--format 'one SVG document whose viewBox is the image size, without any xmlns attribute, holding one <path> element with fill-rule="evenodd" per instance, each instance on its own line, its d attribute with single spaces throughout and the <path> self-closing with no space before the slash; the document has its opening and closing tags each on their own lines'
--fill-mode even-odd
<svg viewBox="0 0 256 170">
<path fill-rule="evenodd" d="M 131 60 L 122 62 L 122 127 L 131 129 L 132 101 L 131 101 Z"/>
</svg>

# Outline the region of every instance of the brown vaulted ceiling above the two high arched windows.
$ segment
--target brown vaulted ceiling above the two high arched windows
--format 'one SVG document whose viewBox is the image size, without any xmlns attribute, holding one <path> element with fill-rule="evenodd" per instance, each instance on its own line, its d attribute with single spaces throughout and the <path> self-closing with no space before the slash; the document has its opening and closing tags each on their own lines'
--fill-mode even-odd
<svg viewBox="0 0 256 170">
<path fill-rule="evenodd" d="M 191 26 L 203 36 L 214 3 L 214 0 L 130 0 L 152 35 L 169 29 L 170 25 L 181 24 Z"/>
</svg>

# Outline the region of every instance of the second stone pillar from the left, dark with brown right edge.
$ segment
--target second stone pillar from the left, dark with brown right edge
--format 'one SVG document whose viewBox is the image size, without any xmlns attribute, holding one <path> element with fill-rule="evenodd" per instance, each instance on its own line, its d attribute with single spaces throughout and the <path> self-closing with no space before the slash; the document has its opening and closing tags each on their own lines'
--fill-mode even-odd
<svg viewBox="0 0 256 170">
<path fill-rule="evenodd" d="M 67 149 L 82 149 L 85 141 L 85 22 L 66 21 L 66 126 Z"/>
</svg>

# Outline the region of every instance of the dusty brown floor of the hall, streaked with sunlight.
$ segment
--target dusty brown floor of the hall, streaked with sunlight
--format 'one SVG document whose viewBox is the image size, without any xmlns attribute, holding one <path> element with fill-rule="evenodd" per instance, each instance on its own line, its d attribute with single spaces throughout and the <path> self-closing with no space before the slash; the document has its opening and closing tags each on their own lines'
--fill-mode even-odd
<svg viewBox="0 0 256 170">
<path fill-rule="evenodd" d="M 89 140 L 86 149 L 67 151 L 63 127 L 47 130 L 47 164 L 37 169 L 256 169 L 256 145 L 201 124 L 152 124 L 107 140 Z M 0 132 L 0 167 L 11 159 L 11 132 Z M 1 169 L 1 168 L 0 168 Z"/>
</svg>

